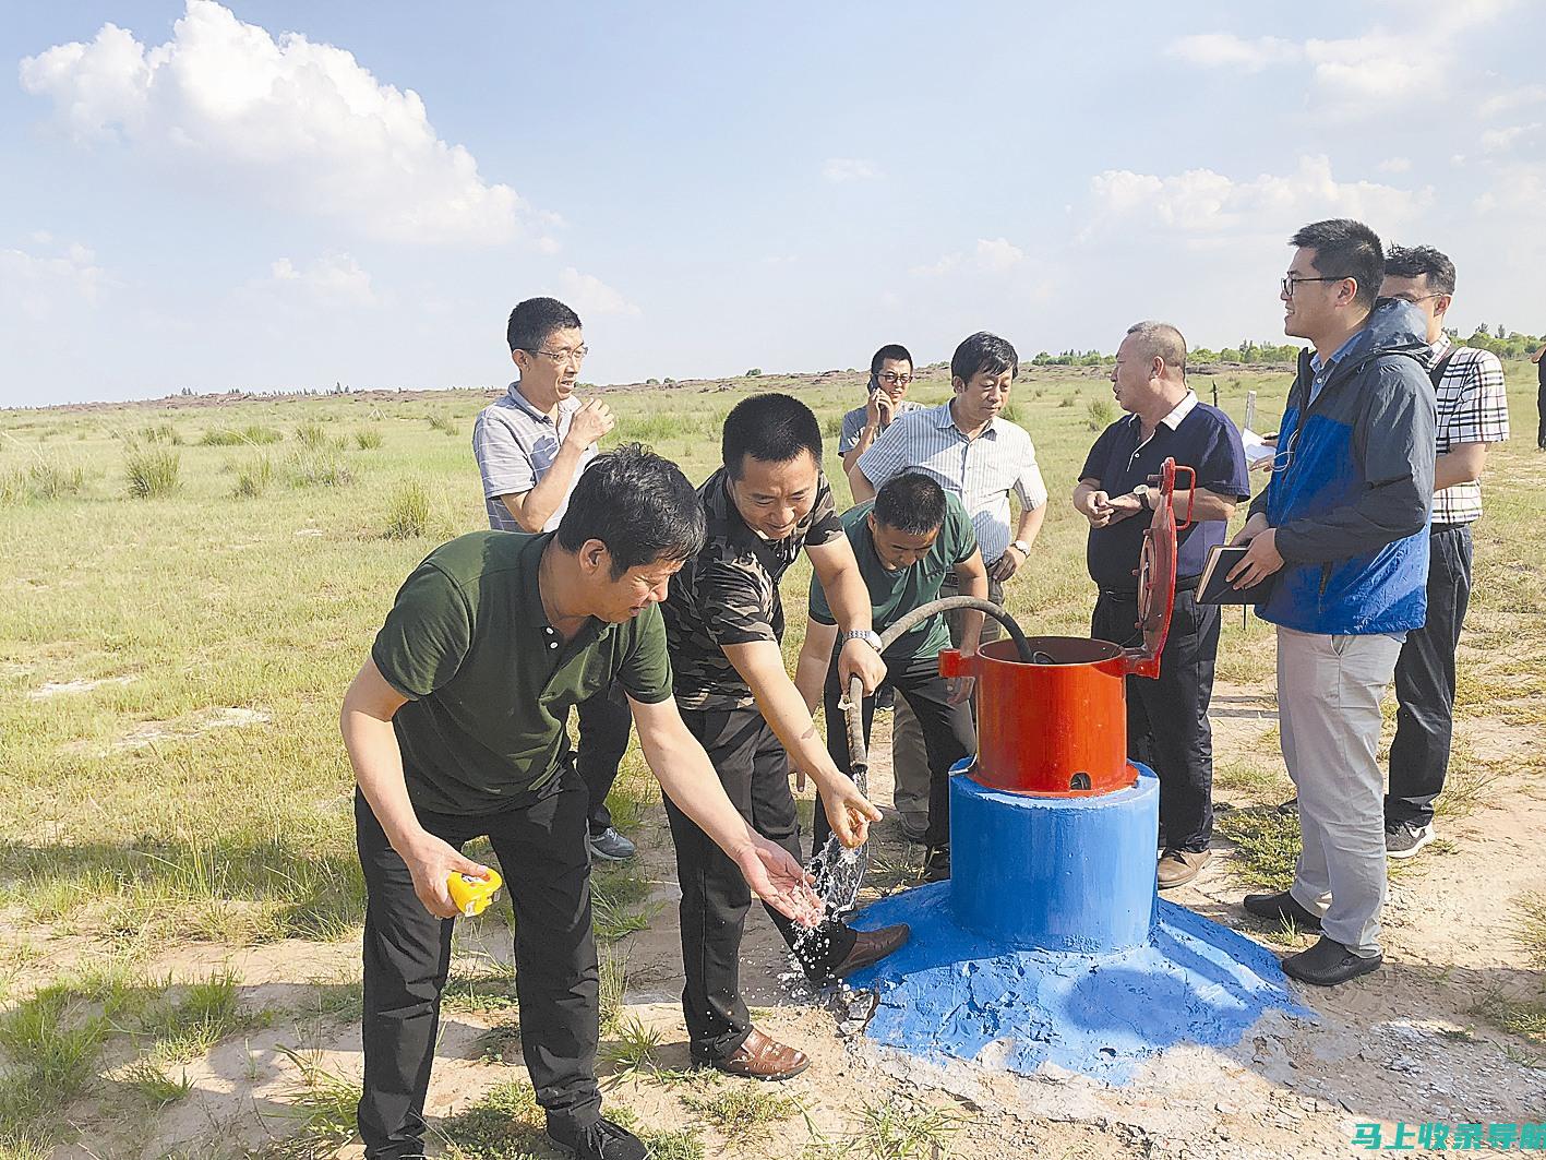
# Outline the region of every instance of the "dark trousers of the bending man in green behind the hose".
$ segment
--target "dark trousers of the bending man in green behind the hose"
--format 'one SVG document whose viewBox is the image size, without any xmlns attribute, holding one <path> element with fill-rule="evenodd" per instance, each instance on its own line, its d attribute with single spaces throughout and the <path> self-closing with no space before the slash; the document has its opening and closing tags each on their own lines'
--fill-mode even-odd
<svg viewBox="0 0 1546 1160">
<path fill-rule="evenodd" d="M 938 656 L 914 657 L 887 665 L 886 684 L 901 694 L 923 730 L 923 747 L 929 758 L 929 826 L 923 835 L 926 846 L 948 846 L 951 841 L 951 766 L 977 752 L 977 727 L 972 724 L 971 701 L 949 702 L 951 682 L 940 676 Z M 878 691 L 878 690 L 877 690 Z M 827 665 L 827 687 L 822 691 L 827 718 L 827 753 L 844 773 L 849 766 L 847 715 L 838 708 L 843 699 L 838 681 L 838 656 Z M 864 744 L 869 745 L 870 724 L 875 721 L 875 698 L 864 698 Z M 816 820 L 812 834 L 812 857 L 827 843 L 832 827 L 816 795 Z"/>
</svg>

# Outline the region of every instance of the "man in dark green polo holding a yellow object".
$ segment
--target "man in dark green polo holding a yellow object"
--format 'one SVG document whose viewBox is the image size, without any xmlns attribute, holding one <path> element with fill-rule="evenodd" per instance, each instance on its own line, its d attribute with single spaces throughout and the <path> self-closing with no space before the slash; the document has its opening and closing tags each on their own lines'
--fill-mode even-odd
<svg viewBox="0 0 1546 1160">
<path fill-rule="evenodd" d="M 424 1155 L 424 1101 L 451 954 L 451 874 L 487 835 L 515 906 L 521 1049 L 549 1135 L 583 1160 L 642 1160 L 600 1115 L 587 792 L 564 721 L 614 679 L 676 806 L 796 922 L 821 908 L 801 865 L 748 826 L 671 696 L 657 603 L 703 543 L 676 464 L 637 445 L 597 459 L 557 532 L 475 532 L 421 563 L 343 701 L 365 869 L 365 1087 L 373 1160 Z"/>
</svg>

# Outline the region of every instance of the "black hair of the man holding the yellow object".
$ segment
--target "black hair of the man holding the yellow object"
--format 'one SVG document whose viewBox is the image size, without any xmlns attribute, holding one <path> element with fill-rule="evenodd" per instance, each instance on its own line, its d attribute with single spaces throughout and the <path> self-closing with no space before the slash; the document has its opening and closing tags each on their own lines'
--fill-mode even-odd
<svg viewBox="0 0 1546 1160">
<path fill-rule="evenodd" d="M 669 459 L 625 442 L 581 472 L 558 521 L 558 546 L 578 552 L 600 540 L 612 557 L 612 578 L 657 560 L 686 560 L 703 546 L 703 504 Z"/>
</svg>

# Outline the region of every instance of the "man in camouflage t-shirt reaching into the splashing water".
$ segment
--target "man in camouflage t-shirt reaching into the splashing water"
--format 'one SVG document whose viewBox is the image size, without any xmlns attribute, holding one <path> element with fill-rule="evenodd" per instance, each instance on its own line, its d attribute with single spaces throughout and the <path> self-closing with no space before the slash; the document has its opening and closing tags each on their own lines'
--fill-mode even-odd
<svg viewBox="0 0 1546 1160">
<path fill-rule="evenodd" d="M 873 691 L 886 674 L 869 591 L 821 473 L 821 425 L 792 396 L 751 396 L 725 419 L 724 461 L 699 487 L 708 540 L 671 578 L 662 605 L 682 719 L 758 834 L 799 855 L 793 759 L 815 780 L 839 840 L 860 844 L 880 812 L 833 764 L 781 651 L 779 578 L 804 551 L 844 629 L 844 684 L 858 676 Z M 753 1029 L 741 998 L 745 882 L 671 801 L 666 817 L 682 885 L 682 1010 L 693 1061 L 759 1080 L 798 1075 L 810 1059 Z M 835 920 L 802 933 L 768 914 L 816 984 L 867 967 L 908 937 L 906 926 L 855 933 Z"/>
</svg>

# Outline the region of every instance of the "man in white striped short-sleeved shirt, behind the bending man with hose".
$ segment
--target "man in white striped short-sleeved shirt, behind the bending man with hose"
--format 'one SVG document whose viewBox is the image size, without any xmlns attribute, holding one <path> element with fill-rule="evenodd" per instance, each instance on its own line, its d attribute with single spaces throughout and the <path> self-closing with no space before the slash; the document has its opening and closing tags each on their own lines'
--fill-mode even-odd
<svg viewBox="0 0 1546 1160">
<path fill-rule="evenodd" d="M 1036 466 L 1036 445 L 1023 427 L 1002 416 L 1019 371 L 1020 359 L 1005 339 L 986 331 L 972 334 L 951 356 L 955 397 L 894 419 L 849 472 L 853 503 L 873 500 L 878 487 L 908 470 L 934 476 L 955 495 L 977 532 L 982 560 L 988 565 L 988 599 L 996 603 L 1003 603 L 1003 585 L 1025 563 L 1047 518 L 1047 484 Z M 1011 492 L 1020 501 L 1013 531 Z M 959 592 L 952 572 L 940 595 Z M 952 612 L 948 620 L 951 642 L 960 647 L 962 616 Z M 983 643 L 1000 636 L 996 620 L 983 626 Z M 923 730 L 904 705 L 897 707 L 892 758 L 901 831 L 921 841 L 929 821 L 929 761 Z"/>
</svg>

